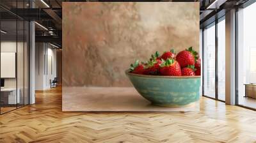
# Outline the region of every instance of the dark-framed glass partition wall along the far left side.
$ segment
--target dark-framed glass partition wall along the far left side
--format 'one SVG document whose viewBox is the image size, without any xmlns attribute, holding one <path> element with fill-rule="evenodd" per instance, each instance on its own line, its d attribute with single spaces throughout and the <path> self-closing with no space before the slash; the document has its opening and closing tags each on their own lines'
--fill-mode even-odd
<svg viewBox="0 0 256 143">
<path fill-rule="evenodd" d="M 24 6 L 22 1 L 12 4 Z M 0 114 L 4 114 L 29 104 L 29 22 L 0 11 L 8 14 L 8 19 L 0 17 Z"/>
</svg>

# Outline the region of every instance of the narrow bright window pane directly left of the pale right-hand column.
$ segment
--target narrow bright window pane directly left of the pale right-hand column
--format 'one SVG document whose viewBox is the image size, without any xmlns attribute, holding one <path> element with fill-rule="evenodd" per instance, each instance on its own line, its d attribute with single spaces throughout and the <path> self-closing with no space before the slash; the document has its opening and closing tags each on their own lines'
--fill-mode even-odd
<svg viewBox="0 0 256 143">
<path fill-rule="evenodd" d="M 225 101 L 225 19 L 218 22 L 218 99 Z"/>
</svg>

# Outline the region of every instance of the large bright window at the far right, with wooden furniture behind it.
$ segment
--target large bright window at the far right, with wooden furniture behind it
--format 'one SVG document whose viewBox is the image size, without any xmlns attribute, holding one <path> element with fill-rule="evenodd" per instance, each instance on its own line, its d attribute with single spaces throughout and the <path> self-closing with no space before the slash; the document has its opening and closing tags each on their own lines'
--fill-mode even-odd
<svg viewBox="0 0 256 143">
<path fill-rule="evenodd" d="M 238 11 L 238 104 L 256 109 L 256 3 Z"/>
</svg>

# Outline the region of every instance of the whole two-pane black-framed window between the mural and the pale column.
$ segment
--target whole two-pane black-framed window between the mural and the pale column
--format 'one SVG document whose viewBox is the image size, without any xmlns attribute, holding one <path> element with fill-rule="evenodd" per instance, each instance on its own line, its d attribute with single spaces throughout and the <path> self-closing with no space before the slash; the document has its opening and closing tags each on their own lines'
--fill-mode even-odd
<svg viewBox="0 0 256 143">
<path fill-rule="evenodd" d="M 225 102 L 225 16 L 204 27 L 203 96 Z"/>
</svg>

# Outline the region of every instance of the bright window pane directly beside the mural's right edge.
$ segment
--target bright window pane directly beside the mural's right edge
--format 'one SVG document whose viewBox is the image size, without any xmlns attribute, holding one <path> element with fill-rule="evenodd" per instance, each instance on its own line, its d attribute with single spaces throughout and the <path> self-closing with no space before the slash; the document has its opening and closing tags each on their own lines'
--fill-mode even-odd
<svg viewBox="0 0 256 143">
<path fill-rule="evenodd" d="M 204 29 L 204 95 L 215 98 L 215 24 Z"/>
</svg>

